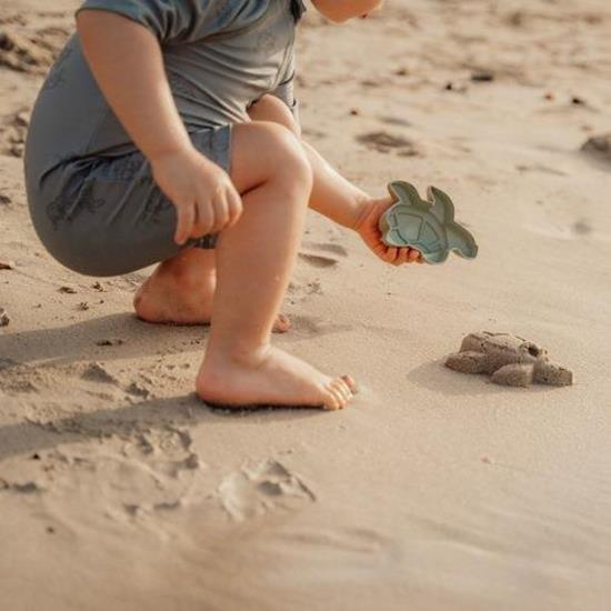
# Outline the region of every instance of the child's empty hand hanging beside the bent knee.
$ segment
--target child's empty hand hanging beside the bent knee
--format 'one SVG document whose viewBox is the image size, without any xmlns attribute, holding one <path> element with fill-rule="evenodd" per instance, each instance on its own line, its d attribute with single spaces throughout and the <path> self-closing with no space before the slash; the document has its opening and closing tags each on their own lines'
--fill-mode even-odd
<svg viewBox="0 0 611 611">
<path fill-rule="evenodd" d="M 217 233 L 236 224 L 242 200 L 228 173 L 196 149 L 151 160 L 153 178 L 177 208 L 174 241 Z"/>
</svg>

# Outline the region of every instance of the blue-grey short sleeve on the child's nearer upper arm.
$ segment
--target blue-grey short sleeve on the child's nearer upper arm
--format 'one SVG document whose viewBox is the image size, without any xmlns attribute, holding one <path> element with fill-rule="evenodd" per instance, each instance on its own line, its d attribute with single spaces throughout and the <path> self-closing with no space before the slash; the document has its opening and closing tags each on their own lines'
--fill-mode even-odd
<svg viewBox="0 0 611 611">
<path fill-rule="evenodd" d="M 77 14 L 84 10 L 109 11 L 153 32 L 160 42 L 191 40 L 206 20 L 207 9 L 214 0 L 86 0 Z"/>
</svg>

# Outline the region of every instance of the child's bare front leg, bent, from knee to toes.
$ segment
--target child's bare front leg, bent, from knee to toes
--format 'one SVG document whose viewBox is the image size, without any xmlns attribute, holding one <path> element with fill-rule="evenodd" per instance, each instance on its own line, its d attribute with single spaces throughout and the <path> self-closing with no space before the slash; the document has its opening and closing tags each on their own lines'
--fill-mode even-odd
<svg viewBox="0 0 611 611">
<path fill-rule="evenodd" d="M 352 395 L 350 380 L 329 378 L 270 345 L 301 240 L 310 164 L 283 128 L 240 124 L 233 131 L 231 178 L 244 211 L 217 247 L 218 287 L 198 394 L 229 405 L 342 408 Z"/>
</svg>

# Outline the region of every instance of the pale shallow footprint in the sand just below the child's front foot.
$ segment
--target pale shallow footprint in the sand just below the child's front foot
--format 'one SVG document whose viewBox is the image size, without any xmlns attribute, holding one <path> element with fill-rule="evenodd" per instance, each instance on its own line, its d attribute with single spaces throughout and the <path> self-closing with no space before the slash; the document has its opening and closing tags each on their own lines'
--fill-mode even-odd
<svg viewBox="0 0 611 611">
<path fill-rule="evenodd" d="M 230 473 L 218 495 L 224 511 L 239 522 L 317 500 L 298 475 L 273 459 L 248 463 Z"/>
</svg>

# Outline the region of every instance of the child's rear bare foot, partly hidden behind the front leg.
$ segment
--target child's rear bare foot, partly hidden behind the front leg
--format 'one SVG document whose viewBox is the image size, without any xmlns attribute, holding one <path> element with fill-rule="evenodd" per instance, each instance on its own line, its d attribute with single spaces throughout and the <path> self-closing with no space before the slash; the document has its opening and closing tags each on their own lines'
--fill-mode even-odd
<svg viewBox="0 0 611 611">
<path fill-rule="evenodd" d="M 213 252 L 191 249 L 161 263 L 133 299 L 136 314 L 162 324 L 209 324 L 217 288 Z M 289 319 L 279 314 L 276 333 L 286 333 Z"/>
</svg>

